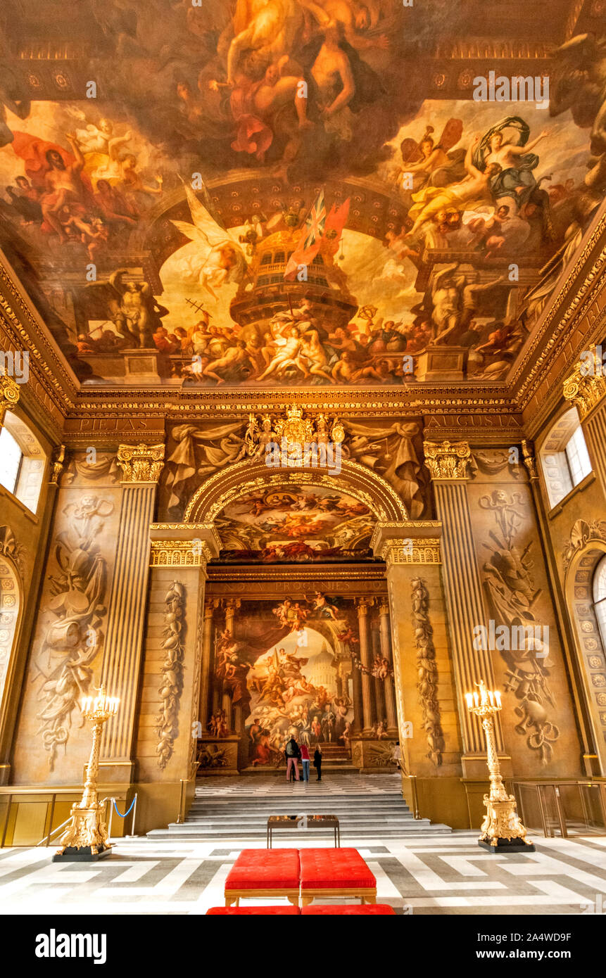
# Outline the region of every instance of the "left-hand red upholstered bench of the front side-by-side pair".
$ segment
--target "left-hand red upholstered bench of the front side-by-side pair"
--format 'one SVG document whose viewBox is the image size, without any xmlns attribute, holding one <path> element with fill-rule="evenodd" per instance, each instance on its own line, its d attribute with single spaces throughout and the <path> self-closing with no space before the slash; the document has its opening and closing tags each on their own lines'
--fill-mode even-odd
<svg viewBox="0 0 606 978">
<path fill-rule="evenodd" d="M 225 906 L 240 897 L 287 897 L 299 906 L 298 849 L 243 849 L 225 880 Z"/>
</svg>

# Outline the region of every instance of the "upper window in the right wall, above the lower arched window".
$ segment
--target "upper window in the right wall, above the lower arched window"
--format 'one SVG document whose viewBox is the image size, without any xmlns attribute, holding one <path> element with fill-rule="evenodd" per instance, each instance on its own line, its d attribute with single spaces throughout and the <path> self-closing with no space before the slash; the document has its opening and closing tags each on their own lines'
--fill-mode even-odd
<svg viewBox="0 0 606 978">
<path fill-rule="evenodd" d="M 541 446 L 539 457 L 549 505 L 553 508 L 591 471 L 577 408 L 571 408 L 555 422 Z"/>
</svg>

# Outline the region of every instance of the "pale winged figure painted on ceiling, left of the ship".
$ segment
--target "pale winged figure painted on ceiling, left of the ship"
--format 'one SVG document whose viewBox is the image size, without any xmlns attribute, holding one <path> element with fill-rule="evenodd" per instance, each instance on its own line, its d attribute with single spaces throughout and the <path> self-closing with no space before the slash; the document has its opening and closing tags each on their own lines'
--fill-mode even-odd
<svg viewBox="0 0 606 978">
<path fill-rule="evenodd" d="M 198 246 L 193 255 L 183 257 L 182 271 L 197 278 L 203 289 L 217 298 L 215 289 L 228 282 L 242 283 L 248 275 L 244 251 L 237 244 L 236 230 L 226 231 L 198 200 L 191 187 L 184 183 L 193 224 L 171 221 L 175 228 Z"/>
</svg>

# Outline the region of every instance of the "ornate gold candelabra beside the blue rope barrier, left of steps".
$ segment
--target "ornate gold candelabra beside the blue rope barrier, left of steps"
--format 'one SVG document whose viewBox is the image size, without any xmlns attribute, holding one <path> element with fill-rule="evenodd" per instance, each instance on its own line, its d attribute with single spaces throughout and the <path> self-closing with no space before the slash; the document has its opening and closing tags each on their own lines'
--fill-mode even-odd
<svg viewBox="0 0 606 978">
<path fill-rule="evenodd" d="M 53 862 L 97 860 L 112 848 L 108 842 L 108 829 L 103 821 L 103 804 L 97 797 L 97 778 L 101 732 L 110 717 L 116 716 L 118 703 L 116 696 L 106 695 L 103 686 L 96 696 L 85 696 L 81 700 L 82 716 L 92 723 L 93 743 L 86 766 L 82 797 L 71 806 L 70 824 L 61 837 L 61 849 L 57 850 Z"/>
</svg>

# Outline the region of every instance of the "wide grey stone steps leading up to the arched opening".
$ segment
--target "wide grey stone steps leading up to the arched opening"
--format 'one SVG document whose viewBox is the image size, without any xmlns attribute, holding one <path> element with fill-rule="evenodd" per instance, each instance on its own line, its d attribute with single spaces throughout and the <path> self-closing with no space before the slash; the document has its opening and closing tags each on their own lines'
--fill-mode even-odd
<svg viewBox="0 0 606 978">
<path fill-rule="evenodd" d="M 284 773 L 283 773 L 284 778 Z M 415 820 L 403 801 L 399 778 L 389 776 L 342 775 L 288 784 L 286 780 L 262 778 L 228 778 L 237 784 L 208 785 L 205 779 L 185 822 L 172 822 L 167 828 L 148 832 L 154 840 L 238 841 L 265 840 L 270 815 L 336 815 L 341 825 L 341 842 L 355 838 L 406 838 L 420 834 L 450 833 L 447 825 L 432 824 L 428 819 Z M 212 778 L 213 781 L 219 780 Z M 260 778 L 257 778 L 260 780 Z M 244 781 L 244 783 L 243 783 Z M 389 782 L 393 781 L 393 785 Z M 305 841 L 331 839 L 327 832 L 305 832 Z M 290 842 L 289 842 L 290 839 Z M 296 845 L 294 833 L 276 832 L 277 845 Z"/>
</svg>

